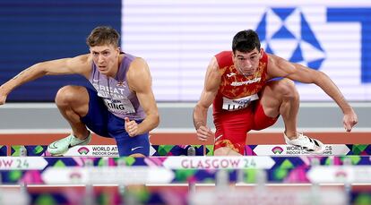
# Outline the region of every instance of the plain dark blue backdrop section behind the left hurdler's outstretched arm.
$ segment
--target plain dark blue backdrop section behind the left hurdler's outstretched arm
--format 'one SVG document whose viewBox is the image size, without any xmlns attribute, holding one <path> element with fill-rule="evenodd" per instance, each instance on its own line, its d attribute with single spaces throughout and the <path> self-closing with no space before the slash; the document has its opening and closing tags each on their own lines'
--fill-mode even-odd
<svg viewBox="0 0 371 205">
<path fill-rule="evenodd" d="M 2 0 L 0 84 L 32 64 L 89 52 L 85 38 L 99 25 L 121 31 L 121 1 Z M 81 76 L 46 76 L 17 88 L 7 101 L 53 101 L 66 84 L 89 83 Z"/>
</svg>

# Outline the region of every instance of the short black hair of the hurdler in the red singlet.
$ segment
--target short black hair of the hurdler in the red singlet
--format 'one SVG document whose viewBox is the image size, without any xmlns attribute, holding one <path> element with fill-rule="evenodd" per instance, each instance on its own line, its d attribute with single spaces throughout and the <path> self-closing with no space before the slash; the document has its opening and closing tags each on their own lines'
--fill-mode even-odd
<svg viewBox="0 0 371 205">
<path fill-rule="evenodd" d="M 260 50 L 260 39 L 254 30 L 241 30 L 237 32 L 232 42 L 233 54 L 236 51 L 243 53 L 256 49 Z"/>
</svg>

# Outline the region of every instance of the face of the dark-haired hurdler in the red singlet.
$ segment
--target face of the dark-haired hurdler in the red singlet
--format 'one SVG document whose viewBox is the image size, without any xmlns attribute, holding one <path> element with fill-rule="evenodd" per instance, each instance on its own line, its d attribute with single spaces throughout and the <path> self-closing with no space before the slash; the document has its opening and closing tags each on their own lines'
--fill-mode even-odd
<svg viewBox="0 0 371 205">
<path fill-rule="evenodd" d="M 262 58 L 261 54 L 262 52 L 256 48 L 248 53 L 236 51 L 233 55 L 233 63 L 239 73 L 254 75 L 259 66 L 259 60 Z"/>
</svg>

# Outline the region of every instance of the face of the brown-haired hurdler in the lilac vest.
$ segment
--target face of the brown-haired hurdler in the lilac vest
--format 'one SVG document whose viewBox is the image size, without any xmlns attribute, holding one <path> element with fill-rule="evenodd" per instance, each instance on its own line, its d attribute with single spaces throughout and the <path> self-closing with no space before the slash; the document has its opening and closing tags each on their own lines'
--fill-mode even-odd
<svg viewBox="0 0 371 205">
<path fill-rule="evenodd" d="M 118 66 L 120 49 L 113 45 L 91 47 L 91 56 L 102 74 L 115 75 Z"/>
</svg>

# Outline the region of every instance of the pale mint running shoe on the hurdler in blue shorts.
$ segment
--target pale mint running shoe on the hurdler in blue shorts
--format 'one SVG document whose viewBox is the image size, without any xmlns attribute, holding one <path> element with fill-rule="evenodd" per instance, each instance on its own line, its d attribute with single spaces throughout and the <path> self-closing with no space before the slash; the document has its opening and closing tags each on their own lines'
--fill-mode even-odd
<svg viewBox="0 0 371 205">
<path fill-rule="evenodd" d="M 65 152 L 68 151 L 68 149 L 76 146 L 76 145 L 86 145 L 91 142 L 91 133 L 89 133 L 89 136 L 84 139 L 80 140 L 76 138 L 73 134 L 68 135 L 67 137 L 59 140 L 54 141 L 49 146 L 47 146 L 47 151 L 52 156 L 62 156 L 65 154 Z"/>
</svg>

